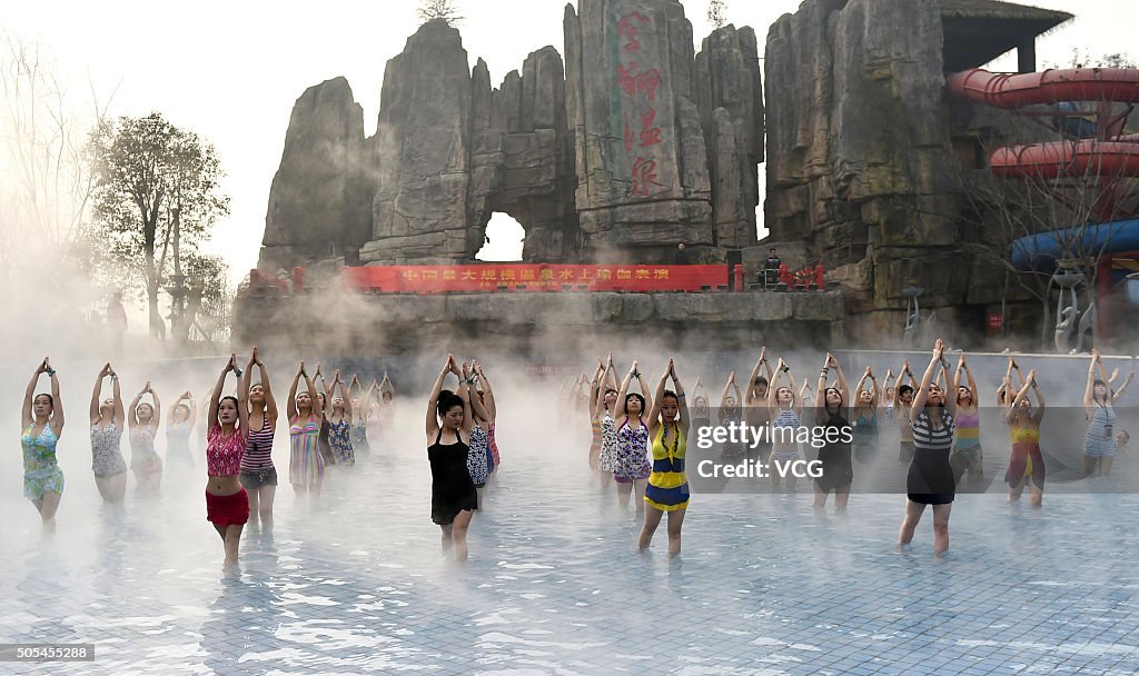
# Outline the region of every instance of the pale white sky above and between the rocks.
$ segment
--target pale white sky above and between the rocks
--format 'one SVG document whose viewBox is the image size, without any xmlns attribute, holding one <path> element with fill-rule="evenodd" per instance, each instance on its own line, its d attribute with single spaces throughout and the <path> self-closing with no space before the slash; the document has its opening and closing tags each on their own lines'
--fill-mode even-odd
<svg viewBox="0 0 1139 676">
<path fill-rule="evenodd" d="M 494 85 L 521 68 L 531 51 L 552 44 L 565 52 L 565 0 L 456 2 L 470 64 L 485 59 Z M 1133 22 L 1123 20 L 1133 16 L 1133 0 L 1032 3 L 1076 15 L 1075 22 L 1040 40 L 1042 66 L 1068 63 L 1075 47 L 1096 56 L 1126 52 L 1133 44 Z M 710 32 L 707 2 L 683 5 L 698 49 Z M 54 55 L 69 90 L 93 90 L 109 99 L 112 115 L 158 110 L 215 145 L 232 201 L 230 216 L 218 225 L 206 249 L 229 261 L 236 283 L 256 265 L 269 186 L 280 165 L 293 104 L 309 86 L 343 75 L 363 107 L 366 133 L 372 134 L 384 65 L 419 26 L 418 6 L 419 0 L 13 1 L 0 9 L 0 26 L 39 40 Z M 762 42 L 768 26 L 797 6 L 796 0 L 727 0 L 726 14 L 730 23 L 755 28 Z M 1015 59 L 1002 58 L 991 67 L 1015 65 Z M 511 236 L 492 232 L 492 250 L 481 257 L 509 257 L 515 247 L 521 253 L 518 231 L 513 247 Z"/>
</svg>

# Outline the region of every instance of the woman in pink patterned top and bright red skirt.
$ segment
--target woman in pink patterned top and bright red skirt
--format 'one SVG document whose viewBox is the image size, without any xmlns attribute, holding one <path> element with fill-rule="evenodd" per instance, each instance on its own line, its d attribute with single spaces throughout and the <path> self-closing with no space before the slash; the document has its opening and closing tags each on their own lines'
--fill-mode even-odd
<svg viewBox="0 0 1139 676">
<path fill-rule="evenodd" d="M 206 520 L 213 524 L 226 546 L 227 567 L 237 563 L 241 529 L 249 520 L 249 495 L 238 478 L 241 456 L 248 445 L 249 406 L 240 378 L 237 397 L 221 396 L 230 371 L 240 373 L 236 354 L 230 355 L 210 397 L 210 436 L 206 440 Z"/>
</svg>

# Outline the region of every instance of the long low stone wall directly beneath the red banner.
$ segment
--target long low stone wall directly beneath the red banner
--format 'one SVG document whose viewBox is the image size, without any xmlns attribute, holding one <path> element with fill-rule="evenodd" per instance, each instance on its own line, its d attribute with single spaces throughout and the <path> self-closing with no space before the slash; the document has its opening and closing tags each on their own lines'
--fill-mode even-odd
<svg viewBox="0 0 1139 676">
<path fill-rule="evenodd" d="M 734 351 L 784 344 L 842 344 L 846 315 L 836 292 L 518 292 L 238 298 L 235 349 L 321 354 L 466 351 L 477 341 L 525 354 L 533 346 L 599 352 L 600 344 L 659 341 Z M 273 327 L 268 335 L 264 327 Z M 596 344 L 595 344 L 596 343 Z"/>
</svg>

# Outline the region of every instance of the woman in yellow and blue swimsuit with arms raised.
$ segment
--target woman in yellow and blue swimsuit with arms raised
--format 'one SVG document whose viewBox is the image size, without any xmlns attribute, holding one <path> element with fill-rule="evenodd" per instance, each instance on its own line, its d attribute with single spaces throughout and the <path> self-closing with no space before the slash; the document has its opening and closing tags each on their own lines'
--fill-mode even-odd
<svg viewBox="0 0 1139 676">
<path fill-rule="evenodd" d="M 675 390 L 665 389 L 672 378 Z M 685 476 L 685 455 L 688 450 L 688 404 L 685 388 L 677 378 L 673 361 L 661 376 L 653 397 L 656 402 L 648 414 L 648 435 L 653 439 L 653 473 L 645 489 L 645 526 L 637 539 L 637 549 L 645 551 L 653 542 L 653 534 L 665 512 L 669 512 L 669 554 L 680 553 L 680 528 L 688 510 L 688 478 Z"/>
</svg>

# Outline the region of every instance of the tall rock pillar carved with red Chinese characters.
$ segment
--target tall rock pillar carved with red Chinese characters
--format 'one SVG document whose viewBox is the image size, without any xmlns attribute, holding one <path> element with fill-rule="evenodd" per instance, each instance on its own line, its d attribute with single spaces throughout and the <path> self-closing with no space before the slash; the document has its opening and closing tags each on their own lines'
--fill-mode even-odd
<svg viewBox="0 0 1139 676">
<path fill-rule="evenodd" d="M 675 0 L 565 10 L 576 205 L 600 259 L 712 245 L 707 151 L 693 96 L 691 25 Z"/>
</svg>

